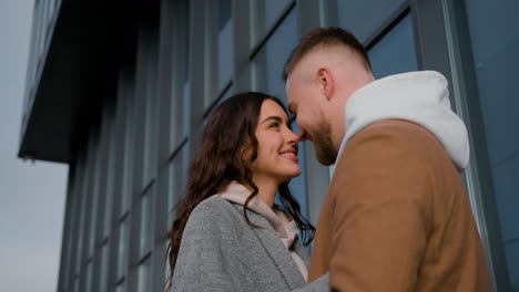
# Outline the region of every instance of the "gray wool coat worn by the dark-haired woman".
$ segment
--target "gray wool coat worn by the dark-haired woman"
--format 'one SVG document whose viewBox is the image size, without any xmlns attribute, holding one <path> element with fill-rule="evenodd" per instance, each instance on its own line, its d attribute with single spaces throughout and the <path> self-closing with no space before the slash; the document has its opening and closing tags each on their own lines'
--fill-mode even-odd
<svg viewBox="0 0 519 292">
<path fill-rule="evenodd" d="M 288 250 L 261 215 L 223 198 L 205 199 L 182 237 L 171 291 L 328 291 L 327 274 L 306 284 Z M 308 265 L 299 239 L 294 250 Z"/>
</svg>

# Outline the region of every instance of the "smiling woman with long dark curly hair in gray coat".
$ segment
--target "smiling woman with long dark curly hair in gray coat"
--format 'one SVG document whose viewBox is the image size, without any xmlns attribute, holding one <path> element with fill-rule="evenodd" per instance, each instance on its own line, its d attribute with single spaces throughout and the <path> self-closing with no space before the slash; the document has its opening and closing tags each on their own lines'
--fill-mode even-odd
<svg viewBox="0 0 519 292">
<path fill-rule="evenodd" d="M 176 206 L 167 248 L 173 291 L 292 291 L 306 284 L 302 242 L 308 244 L 315 229 L 287 186 L 301 174 L 297 142 L 273 96 L 243 93 L 218 106 Z"/>
</svg>

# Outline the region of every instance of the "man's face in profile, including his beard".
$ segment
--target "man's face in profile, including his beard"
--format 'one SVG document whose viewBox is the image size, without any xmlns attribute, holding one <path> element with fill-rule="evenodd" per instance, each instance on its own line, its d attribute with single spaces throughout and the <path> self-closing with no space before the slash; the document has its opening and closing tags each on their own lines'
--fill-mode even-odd
<svg viewBox="0 0 519 292">
<path fill-rule="evenodd" d="M 326 97 L 316 84 L 288 76 L 286 82 L 288 109 L 296 115 L 299 139 L 309 139 L 315 146 L 317 160 L 332 165 L 337 158 L 337 149 L 332 143 L 332 125 L 326 118 Z"/>
</svg>

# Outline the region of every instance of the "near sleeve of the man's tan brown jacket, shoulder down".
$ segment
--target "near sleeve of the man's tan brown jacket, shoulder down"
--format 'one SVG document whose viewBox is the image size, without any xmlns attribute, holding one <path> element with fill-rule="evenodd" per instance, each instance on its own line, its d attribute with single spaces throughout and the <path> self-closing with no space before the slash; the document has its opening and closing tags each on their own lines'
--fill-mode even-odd
<svg viewBox="0 0 519 292">
<path fill-rule="evenodd" d="M 390 128 L 348 143 L 329 194 L 333 291 L 414 291 L 430 230 L 426 150 Z"/>
</svg>

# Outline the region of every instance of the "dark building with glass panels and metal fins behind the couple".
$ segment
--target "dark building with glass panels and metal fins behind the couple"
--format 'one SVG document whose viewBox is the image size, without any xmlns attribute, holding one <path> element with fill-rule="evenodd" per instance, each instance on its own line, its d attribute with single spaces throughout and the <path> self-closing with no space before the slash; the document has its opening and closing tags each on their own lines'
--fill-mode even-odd
<svg viewBox="0 0 519 292">
<path fill-rule="evenodd" d="M 377 79 L 449 80 L 492 284 L 519 291 L 517 14 L 515 0 L 37 0 L 19 156 L 70 166 L 58 290 L 160 291 L 207 116 L 244 91 L 286 103 L 291 51 L 334 25 L 358 36 Z M 291 188 L 315 223 L 333 171 L 309 143 L 299 161 Z"/>
</svg>

